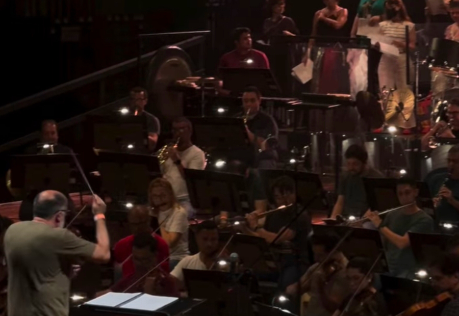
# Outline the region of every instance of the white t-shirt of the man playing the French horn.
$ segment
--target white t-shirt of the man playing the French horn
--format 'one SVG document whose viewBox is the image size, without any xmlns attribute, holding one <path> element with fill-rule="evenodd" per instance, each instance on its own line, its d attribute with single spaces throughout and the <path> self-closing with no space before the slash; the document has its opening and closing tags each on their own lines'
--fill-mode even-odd
<svg viewBox="0 0 459 316">
<path fill-rule="evenodd" d="M 204 170 L 206 168 L 206 155 L 195 145 L 184 151 L 179 151 L 179 157 L 182 161 L 182 166 L 186 169 Z M 168 159 L 161 169 L 163 177 L 172 185 L 175 196 L 177 198 L 188 197 L 187 183 L 182 177 L 179 167 L 171 159 Z"/>
</svg>

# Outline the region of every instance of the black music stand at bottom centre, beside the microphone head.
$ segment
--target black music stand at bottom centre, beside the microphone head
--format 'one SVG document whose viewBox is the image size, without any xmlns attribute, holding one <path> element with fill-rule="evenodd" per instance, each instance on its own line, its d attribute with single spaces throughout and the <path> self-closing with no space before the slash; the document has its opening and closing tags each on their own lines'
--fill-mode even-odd
<svg viewBox="0 0 459 316">
<path fill-rule="evenodd" d="M 227 272 L 183 269 L 188 295 L 206 299 L 208 315 L 253 316 L 248 286 Z"/>
</svg>

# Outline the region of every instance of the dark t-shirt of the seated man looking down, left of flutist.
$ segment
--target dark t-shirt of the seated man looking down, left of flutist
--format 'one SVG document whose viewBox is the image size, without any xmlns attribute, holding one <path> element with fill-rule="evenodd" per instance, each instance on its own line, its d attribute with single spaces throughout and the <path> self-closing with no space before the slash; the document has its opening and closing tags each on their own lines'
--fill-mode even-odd
<svg viewBox="0 0 459 316">
<path fill-rule="evenodd" d="M 369 205 L 367 193 L 362 178 L 382 178 L 382 173 L 378 170 L 369 168 L 361 175 L 345 174 L 340 182 L 338 195 L 344 196 L 344 207 L 342 215 L 344 217 L 353 215 L 361 217 L 367 212 Z"/>
</svg>

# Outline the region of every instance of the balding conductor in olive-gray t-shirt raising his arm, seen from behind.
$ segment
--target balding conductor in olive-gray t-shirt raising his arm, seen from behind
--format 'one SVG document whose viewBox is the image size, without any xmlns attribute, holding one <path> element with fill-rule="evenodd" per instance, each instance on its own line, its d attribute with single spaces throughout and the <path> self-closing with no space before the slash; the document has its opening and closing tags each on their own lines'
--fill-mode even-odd
<svg viewBox="0 0 459 316">
<path fill-rule="evenodd" d="M 97 244 L 65 229 L 67 198 L 43 191 L 34 200 L 34 219 L 11 225 L 5 233 L 8 265 L 8 315 L 67 316 L 71 260 L 110 260 L 105 203 L 94 196 Z"/>
</svg>

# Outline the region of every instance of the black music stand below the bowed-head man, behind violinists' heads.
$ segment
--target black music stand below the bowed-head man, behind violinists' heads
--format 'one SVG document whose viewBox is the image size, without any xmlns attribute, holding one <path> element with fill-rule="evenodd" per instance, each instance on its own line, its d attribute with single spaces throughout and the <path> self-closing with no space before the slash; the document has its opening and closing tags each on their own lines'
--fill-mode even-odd
<svg viewBox="0 0 459 316">
<path fill-rule="evenodd" d="M 382 256 L 378 264 L 376 264 L 373 272 L 389 272 L 384 246 L 382 245 L 381 236 L 378 230 L 349 226 L 313 225 L 313 231 L 316 235 L 326 235 L 329 234 L 330 231 L 333 231 L 335 235 L 343 238 L 347 233 L 349 233 L 349 230 L 351 231 L 350 235 L 340 247 L 340 250 L 346 258 L 366 257 L 373 262 L 382 253 Z"/>
</svg>

